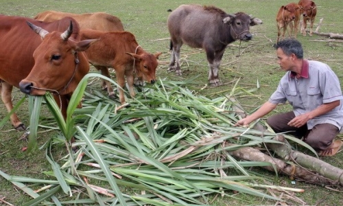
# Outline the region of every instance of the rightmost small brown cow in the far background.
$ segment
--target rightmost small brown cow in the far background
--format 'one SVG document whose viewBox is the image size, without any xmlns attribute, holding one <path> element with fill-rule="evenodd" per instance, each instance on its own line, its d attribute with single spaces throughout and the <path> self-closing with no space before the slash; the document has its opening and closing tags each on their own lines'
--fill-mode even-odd
<svg viewBox="0 0 343 206">
<path fill-rule="evenodd" d="M 314 1 L 300 0 L 300 12 L 303 15 L 303 24 L 301 25 L 301 32 L 306 36 L 307 21 L 310 23 L 309 36 L 312 36 L 312 28 L 314 27 L 314 20 L 316 19 L 317 6 Z"/>
</svg>

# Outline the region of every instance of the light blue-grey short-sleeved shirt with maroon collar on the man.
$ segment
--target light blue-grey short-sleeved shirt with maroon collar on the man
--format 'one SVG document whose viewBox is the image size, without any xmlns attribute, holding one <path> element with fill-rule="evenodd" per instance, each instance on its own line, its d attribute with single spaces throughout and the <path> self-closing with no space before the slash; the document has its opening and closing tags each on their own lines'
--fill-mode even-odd
<svg viewBox="0 0 343 206">
<path fill-rule="evenodd" d="M 271 95 L 272 104 L 289 102 L 296 116 L 313 111 L 324 103 L 340 100 L 340 106 L 332 111 L 314 117 L 307 122 L 311 129 L 316 124 L 329 123 L 341 130 L 343 126 L 343 98 L 340 81 L 331 68 L 315 60 L 303 60 L 300 78 L 293 71 L 287 71 L 281 78 L 279 86 Z"/>
</svg>

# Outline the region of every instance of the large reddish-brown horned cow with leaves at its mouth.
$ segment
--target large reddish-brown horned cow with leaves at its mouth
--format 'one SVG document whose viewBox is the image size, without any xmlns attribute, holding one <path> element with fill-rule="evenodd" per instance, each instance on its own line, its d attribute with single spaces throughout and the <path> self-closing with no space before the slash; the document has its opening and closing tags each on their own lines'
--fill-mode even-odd
<svg viewBox="0 0 343 206">
<path fill-rule="evenodd" d="M 38 25 L 34 30 L 45 35 L 35 34 L 27 22 Z M 79 51 L 86 49 L 91 41 L 78 42 L 78 23 L 69 17 L 44 23 L 0 15 L 0 25 L 0 90 L 8 112 L 13 108 L 11 93 L 14 86 L 31 95 L 54 91 L 54 98 L 66 117 L 69 98 L 89 70 L 86 56 Z M 73 25 L 73 30 L 69 25 Z M 69 30 L 65 31 L 68 26 Z M 14 128 L 25 130 L 15 113 L 10 119 Z"/>
</svg>

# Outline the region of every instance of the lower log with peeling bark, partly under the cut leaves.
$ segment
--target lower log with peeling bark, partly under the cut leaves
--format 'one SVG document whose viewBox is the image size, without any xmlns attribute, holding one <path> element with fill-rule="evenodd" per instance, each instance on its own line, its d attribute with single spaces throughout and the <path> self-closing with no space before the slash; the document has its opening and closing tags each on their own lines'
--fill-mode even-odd
<svg viewBox="0 0 343 206">
<path fill-rule="evenodd" d="M 277 144 L 280 145 L 280 144 Z M 225 146 L 237 146 L 236 144 L 226 143 Z M 320 185 L 333 185 L 335 182 L 324 178 L 320 175 L 314 175 L 313 172 L 307 170 L 306 168 L 299 167 L 295 164 L 285 163 L 281 159 L 270 157 L 270 155 L 265 155 L 260 150 L 250 147 L 239 148 L 237 150 L 228 151 L 228 154 L 236 157 L 238 159 L 244 159 L 246 161 L 264 161 L 271 163 L 271 166 L 264 166 L 262 168 L 275 172 L 275 168 L 278 174 L 286 174 L 290 179 L 297 179 L 305 181 L 312 184 Z"/>
</svg>

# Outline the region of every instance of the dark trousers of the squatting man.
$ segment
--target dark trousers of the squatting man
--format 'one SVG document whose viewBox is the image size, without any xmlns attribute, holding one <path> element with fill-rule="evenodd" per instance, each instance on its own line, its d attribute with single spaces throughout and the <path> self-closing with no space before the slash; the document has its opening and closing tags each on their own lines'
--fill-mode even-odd
<svg viewBox="0 0 343 206">
<path fill-rule="evenodd" d="M 296 115 L 290 111 L 269 117 L 267 123 L 275 133 L 289 132 L 287 134 L 294 135 L 299 139 L 303 137 L 303 141 L 315 150 L 326 150 L 340 132 L 333 124 L 317 124 L 311 130 L 307 129 L 306 124 L 300 128 L 288 126 L 287 123 L 294 117 Z"/>
</svg>

